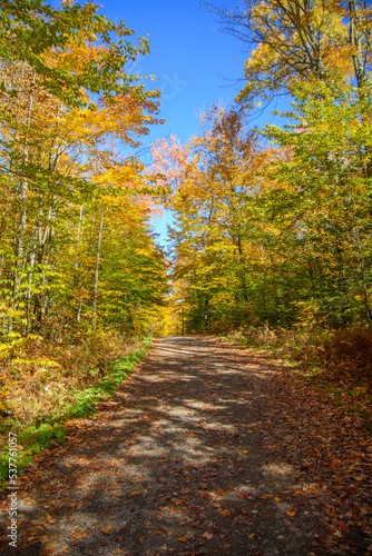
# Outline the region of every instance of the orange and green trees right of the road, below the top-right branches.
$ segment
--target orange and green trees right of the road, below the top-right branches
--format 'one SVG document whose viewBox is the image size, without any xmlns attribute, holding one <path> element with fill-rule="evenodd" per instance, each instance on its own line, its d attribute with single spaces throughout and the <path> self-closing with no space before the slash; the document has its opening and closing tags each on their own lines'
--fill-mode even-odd
<svg viewBox="0 0 372 556">
<path fill-rule="evenodd" d="M 183 152 L 163 147 L 177 176 L 170 236 L 189 332 L 372 325 L 371 83 L 290 88 L 290 123 L 263 133 L 271 148 L 224 110 Z"/>
</svg>

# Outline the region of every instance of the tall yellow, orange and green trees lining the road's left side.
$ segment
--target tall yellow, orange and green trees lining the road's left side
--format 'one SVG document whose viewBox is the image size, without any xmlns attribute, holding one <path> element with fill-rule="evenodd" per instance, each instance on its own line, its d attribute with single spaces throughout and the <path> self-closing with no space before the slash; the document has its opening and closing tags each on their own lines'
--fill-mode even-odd
<svg viewBox="0 0 372 556">
<path fill-rule="evenodd" d="M 164 256 L 151 255 L 148 236 L 150 187 L 135 157 L 148 126 L 159 121 L 158 93 L 146 92 L 128 71 L 148 51 L 147 41 L 124 40 L 133 31 L 96 12 L 91 3 L 55 10 L 39 1 L 2 2 L 1 44 L 7 40 L 12 48 L 0 70 L 0 271 L 3 331 L 11 334 L 61 337 L 76 325 L 87 331 L 97 321 L 111 322 L 105 302 L 112 285 L 101 280 L 101 254 L 114 264 L 107 249 L 117 245 L 110 239 L 116 232 L 125 241 L 136 229 L 131 249 L 136 241 L 145 245 L 161 276 L 148 281 L 159 287 L 149 298 L 159 300 L 166 289 Z M 111 228 L 107 218 L 121 224 Z M 139 294 L 124 289 L 117 295 L 138 308 Z M 129 320 L 135 322 L 134 314 Z"/>
</svg>

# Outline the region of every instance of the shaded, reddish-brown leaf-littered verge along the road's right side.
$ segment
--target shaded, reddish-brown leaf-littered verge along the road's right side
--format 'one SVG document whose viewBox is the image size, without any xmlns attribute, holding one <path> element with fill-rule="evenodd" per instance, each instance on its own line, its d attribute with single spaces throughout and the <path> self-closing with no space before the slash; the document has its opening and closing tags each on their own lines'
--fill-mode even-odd
<svg viewBox="0 0 372 556">
<path fill-rule="evenodd" d="M 372 434 L 372 330 L 242 328 L 223 339 L 262 350 L 311 383 Z"/>
</svg>

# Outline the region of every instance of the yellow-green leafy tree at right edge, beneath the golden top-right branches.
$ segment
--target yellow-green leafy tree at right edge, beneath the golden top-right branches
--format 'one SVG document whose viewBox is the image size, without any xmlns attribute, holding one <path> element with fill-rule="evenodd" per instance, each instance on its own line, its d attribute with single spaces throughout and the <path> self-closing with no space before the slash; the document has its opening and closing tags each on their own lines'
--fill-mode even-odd
<svg viewBox="0 0 372 556">
<path fill-rule="evenodd" d="M 372 251 L 369 177 L 371 122 L 366 96 L 342 81 L 297 81 L 291 117 L 266 137 L 291 151 L 270 171 L 275 189 L 266 196 L 266 217 L 281 230 L 275 248 L 303 276 L 298 307 L 312 305 L 331 326 L 371 326 Z"/>
</svg>

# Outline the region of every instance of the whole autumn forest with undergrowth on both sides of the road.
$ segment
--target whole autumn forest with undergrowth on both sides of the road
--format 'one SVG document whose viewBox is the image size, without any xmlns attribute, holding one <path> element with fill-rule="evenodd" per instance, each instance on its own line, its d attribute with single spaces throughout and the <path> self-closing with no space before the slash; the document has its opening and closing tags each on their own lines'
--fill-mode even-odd
<svg viewBox="0 0 372 556">
<path fill-rule="evenodd" d="M 0 1 L 0 411 L 25 465 L 154 335 L 280 348 L 371 387 L 371 8 L 241 3 L 204 2 L 248 51 L 236 101 L 146 165 L 164 122 L 136 73 L 147 38 L 92 2 Z M 256 129 L 277 96 L 282 123 Z"/>
</svg>

